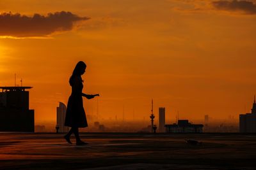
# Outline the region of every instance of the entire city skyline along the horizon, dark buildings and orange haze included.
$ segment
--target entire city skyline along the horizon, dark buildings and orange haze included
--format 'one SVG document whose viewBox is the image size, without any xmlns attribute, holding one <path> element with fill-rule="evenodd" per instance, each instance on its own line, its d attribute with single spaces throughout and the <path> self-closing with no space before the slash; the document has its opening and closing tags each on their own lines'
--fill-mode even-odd
<svg viewBox="0 0 256 170">
<path fill-rule="evenodd" d="M 34 110 L 29 110 L 29 92 L 31 87 L 0 87 L 0 131 L 24 132 L 67 132 L 64 127 L 66 106 L 59 103 L 56 106 L 56 122 L 35 124 Z M 179 113 L 175 120 L 166 117 L 175 115 L 164 107 L 153 111 L 148 108 L 148 117 L 143 120 L 125 119 L 122 117 L 99 117 L 98 114 L 87 114 L 88 127 L 81 132 L 256 132 L 256 101 L 254 98 L 251 113 L 228 116 L 226 119 L 216 119 L 212 115 L 204 115 L 201 120 L 180 119 Z M 155 108 L 156 110 L 156 108 Z M 36 112 L 36 111 L 35 111 Z M 134 113 L 132 113 L 134 114 Z M 35 125 L 35 126 L 34 126 Z"/>
</svg>

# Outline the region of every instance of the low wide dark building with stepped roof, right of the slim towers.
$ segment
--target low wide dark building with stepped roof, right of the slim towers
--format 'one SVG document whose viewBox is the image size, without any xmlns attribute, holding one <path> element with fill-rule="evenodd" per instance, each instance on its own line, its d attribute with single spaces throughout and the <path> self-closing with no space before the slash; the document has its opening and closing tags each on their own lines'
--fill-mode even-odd
<svg viewBox="0 0 256 170">
<path fill-rule="evenodd" d="M 168 133 L 202 133 L 204 125 L 191 124 L 188 120 L 178 120 L 178 124 L 165 125 Z"/>
</svg>

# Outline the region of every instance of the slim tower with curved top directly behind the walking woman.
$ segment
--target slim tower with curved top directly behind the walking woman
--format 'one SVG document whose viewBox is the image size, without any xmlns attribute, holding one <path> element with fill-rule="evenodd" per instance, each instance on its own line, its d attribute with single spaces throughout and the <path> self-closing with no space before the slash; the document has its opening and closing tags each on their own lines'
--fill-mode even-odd
<svg viewBox="0 0 256 170">
<path fill-rule="evenodd" d="M 65 126 L 65 117 L 66 117 L 66 111 L 67 107 L 64 103 L 59 104 L 59 107 L 57 107 L 57 125 L 56 127 L 59 127 L 58 132 L 68 132 L 69 128 Z"/>
</svg>

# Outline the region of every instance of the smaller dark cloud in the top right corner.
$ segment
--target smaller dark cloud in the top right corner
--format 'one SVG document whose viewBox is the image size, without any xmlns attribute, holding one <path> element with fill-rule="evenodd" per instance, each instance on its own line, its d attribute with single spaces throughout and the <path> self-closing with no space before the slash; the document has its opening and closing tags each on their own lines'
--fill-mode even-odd
<svg viewBox="0 0 256 170">
<path fill-rule="evenodd" d="M 214 1 L 212 5 L 218 10 L 227 11 L 243 11 L 246 14 L 255 15 L 256 14 L 256 4 L 253 1 Z"/>
</svg>

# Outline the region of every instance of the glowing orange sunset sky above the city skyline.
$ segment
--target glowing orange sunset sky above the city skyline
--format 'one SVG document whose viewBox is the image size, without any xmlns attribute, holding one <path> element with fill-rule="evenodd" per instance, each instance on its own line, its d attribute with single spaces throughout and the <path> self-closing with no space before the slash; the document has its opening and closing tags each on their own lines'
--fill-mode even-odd
<svg viewBox="0 0 256 170">
<path fill-rule="evenodd" d="M 148 118 L 152 98 L 155 113 L 166 107 L 167 122 L 178 110 L 191 120 L 238 118 L 256 93 L 256 2 L 225 2 L 3 0 L 3 18 L 9 11 L 27 17 L 70 11 L 77 18 L 48 16 L 26 27 L 19 17 L 0 19 L 0 86 L 13 85 L 16 73 L 33 87 L 36 124 L 55 121 L 58 102 L 70 95 L 68 78 L 83 60 L 84 92 L 100 94 L 102 118 L 122 119 L 123 106 L 125 120 L 133 110 Z M 84 100 L 84 108 L 96 114 L 97 99 Z"/>
</svg>

